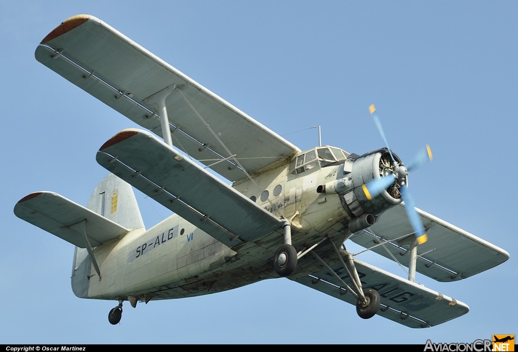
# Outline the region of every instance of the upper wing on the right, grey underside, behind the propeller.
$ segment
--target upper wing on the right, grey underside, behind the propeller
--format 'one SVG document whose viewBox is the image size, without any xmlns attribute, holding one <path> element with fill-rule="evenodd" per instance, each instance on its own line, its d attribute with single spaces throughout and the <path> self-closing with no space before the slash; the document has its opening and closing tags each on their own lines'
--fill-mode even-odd
<svg viewBox="0 0 518 352">
<path fill-rule="evenodd" d="M 428 241 L 418 246 L 416 271 L 438 281 L 454 281 L 470 277 L 509 259 L 505 250 L 474 236 L 433 215 L 417 209 Z M 363 247 L 370 248 L 384 241 L 392 241 L 405 234 L 413 233 L 405 212 L 404 205 L 397 205 L 381 215 L 378 222 L 370 227 L 373 236 L 367 232 L 351 237 L 351 240 Z M 383 248 L 385 247 L 385 248 Z M 407 248 L 396 242 L 387 242 L 384 246 L 372 249 L 389 259 L 397 258 L 408 266 Z"/>
</svg>

